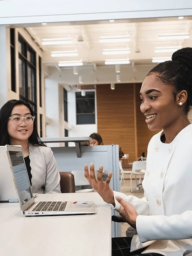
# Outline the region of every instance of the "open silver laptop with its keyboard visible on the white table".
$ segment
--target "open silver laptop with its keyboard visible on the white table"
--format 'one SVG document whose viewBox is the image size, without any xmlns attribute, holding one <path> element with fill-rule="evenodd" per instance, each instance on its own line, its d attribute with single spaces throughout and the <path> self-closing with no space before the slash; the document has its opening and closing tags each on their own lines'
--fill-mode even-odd
<svg viewBox="0 0 192 256">
<path fill-rule="evenodd" d="M 35 202 L 21 146 L 5 145 L 21 211 L 25 216 L 96 213 L 93 201 Z"/>
</svg>

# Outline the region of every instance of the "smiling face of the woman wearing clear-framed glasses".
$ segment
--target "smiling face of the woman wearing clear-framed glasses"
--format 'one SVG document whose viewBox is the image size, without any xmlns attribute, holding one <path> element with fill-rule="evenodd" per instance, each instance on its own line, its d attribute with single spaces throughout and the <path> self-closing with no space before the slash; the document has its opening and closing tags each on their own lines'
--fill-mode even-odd
<svg viewBox="0 0 192 256">
<path fill-rule="evenodd" d="M 16 105 L 13 107 L 11 112 L 11 117 L 27 117 L 31 116 L 31 112 L 25 105 Z M 28 138 L 31 136 L 33 131 L 33 123 L 26 123 L 22 121 L 20 124 L 15 124 L 12 120 L 7 123 L 7 131 L 10 136 L 11 145 L 23 144 L 23 142 L 28 142 Z"/>
</svg>

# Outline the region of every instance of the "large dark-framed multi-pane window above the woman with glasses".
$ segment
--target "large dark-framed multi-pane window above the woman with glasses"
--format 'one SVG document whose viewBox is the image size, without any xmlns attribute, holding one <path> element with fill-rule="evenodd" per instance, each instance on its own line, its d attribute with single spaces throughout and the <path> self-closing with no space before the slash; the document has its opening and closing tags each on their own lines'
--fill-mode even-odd
<svg viewBox="0 0 192 256">
<path fill-rule="evenodd" d="M 27 101 L 37 116 L 36 53 L 19 35 L 19 96 Z"/>
</svg>

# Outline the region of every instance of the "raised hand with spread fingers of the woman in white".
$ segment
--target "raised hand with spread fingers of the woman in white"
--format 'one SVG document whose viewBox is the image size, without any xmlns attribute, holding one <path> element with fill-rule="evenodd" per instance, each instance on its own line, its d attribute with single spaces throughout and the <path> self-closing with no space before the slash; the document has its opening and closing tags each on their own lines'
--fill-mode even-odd
<svg viewBox="0 0 192 256">
<path fill-rule="evenodd" d="M 112 172 L 107 176 L 106 181 L 102 180 L 103 166 L 100 165 L 97 178 L 95 175 L 94 164 L 90 164 L 90 172 L 88 165 L 85 165 L 85 178 L 89 181 L 91 187 L 93 187 L 96 192 L 103 198 L 106 203 L 112 203 L 115 206 L 115 199 L 112 188 L 109 186 L 109 182 L 112 178 Z"/>
</svg>

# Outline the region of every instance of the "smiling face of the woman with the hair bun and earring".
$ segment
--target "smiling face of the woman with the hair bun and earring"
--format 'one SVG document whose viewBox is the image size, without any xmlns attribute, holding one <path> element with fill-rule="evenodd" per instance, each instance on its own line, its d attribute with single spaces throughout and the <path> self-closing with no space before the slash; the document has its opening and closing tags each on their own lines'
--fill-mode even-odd
<svg viewBox="0 0 192 256">
<path fill-rule="evenodd" d="M 173 90 L 173 86 L 163 84 L 155 74 L 144 79 L 140 90 L 140 110 L 146 117 L 149 130 L 171 128 L 184 115 Z"/>
</svg>

